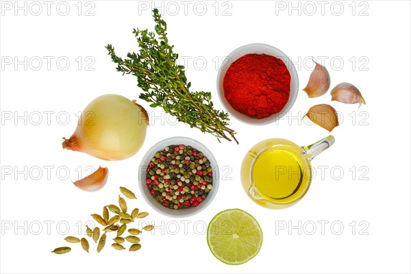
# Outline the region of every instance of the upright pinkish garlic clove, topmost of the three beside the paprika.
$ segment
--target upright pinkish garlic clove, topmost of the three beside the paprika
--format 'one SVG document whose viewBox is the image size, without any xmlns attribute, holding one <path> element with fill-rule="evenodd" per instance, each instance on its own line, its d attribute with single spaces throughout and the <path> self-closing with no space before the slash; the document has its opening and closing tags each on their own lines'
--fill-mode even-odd
<svg viewBox="0 0 411 274">
<path fill-rule="evenodd" d="M 315 61 L 314 61 L 315 62 Z M 325 66 L 315 62 L 314 71 L 310 75 L 306 88 L 303 88 L 307 92 L 308 98 L 320 97 L 325 95 L 325 92 L 329 89 L 331 79 Z"/>
</svg>

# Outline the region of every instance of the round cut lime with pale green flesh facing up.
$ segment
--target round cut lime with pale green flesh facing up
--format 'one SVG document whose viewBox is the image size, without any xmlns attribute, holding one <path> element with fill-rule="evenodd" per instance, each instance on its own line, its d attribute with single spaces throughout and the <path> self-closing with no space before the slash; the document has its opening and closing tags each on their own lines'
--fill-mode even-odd
<svg viewBox="0 0 411 274">
<path fill-rule="evenodd" d="M 256 219 L 239 209 L 216 214 L 207 229 L 212 254 L 225 264 L 244 264 L 258 254 L 262 230 Z"/>
</svg>

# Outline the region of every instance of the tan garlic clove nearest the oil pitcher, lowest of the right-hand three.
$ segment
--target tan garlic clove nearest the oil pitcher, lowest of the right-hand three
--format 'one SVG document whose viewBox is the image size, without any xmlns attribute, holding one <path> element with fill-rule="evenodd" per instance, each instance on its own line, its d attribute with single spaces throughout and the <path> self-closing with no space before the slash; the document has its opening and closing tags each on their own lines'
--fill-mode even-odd
<svg viewBox="0 0 411 274">
<path fill-rule="evenodd" d="M 329 132 L 332 132 L 332 129 L 338 126 L 336 110 L 331 105 L 325 103 L 312 106 L 304 116 L 307 116 L 312 122 L 327 129 Z"/>
</svg>

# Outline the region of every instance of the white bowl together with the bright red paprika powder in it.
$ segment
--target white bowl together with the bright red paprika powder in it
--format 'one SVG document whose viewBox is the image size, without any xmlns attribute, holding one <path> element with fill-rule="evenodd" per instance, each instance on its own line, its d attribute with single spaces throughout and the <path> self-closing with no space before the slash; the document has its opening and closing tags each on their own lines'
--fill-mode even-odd
<svg viewBox="0 0 411 274">
<path fill-rule="evenodd" d="M 299 82 L 285 53 L 270 45 L 249 44 L 227 58 L 217 75 L 217 90 L 232 116 L 251 125 L 266 125 L 291 109 Z"/>
</svg>

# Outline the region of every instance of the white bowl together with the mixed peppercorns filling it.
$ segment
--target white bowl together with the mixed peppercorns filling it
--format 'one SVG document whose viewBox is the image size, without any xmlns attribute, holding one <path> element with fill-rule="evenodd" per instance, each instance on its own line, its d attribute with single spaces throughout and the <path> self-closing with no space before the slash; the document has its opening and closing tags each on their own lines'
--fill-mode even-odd
<svg viewBox="0 0 411 274">
<path fill-rule="evenodd" d="M 139 171 L 143 197 L 167 216 L 190 216 L 206 208 L 219 187 L 218 166 L 201 142 L 172 137 L 153 145 Z"/>
</svg>

